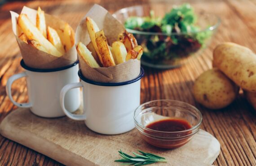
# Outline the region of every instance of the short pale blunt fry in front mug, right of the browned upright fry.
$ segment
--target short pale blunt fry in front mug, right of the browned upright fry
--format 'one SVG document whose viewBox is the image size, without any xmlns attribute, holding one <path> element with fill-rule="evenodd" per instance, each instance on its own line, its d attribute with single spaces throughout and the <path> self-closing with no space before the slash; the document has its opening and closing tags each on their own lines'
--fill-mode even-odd
<svg viewBox="0 0 256 166">
<path fill-rule="evenodd" d="M 125 62 L 125 57 L 127 55 L 126 48 L 124 44 L 120 41 L 116 41 L 112 44 L 112 54 L 115 60 L 115 64 L 120 64 Z"/>
</svg>

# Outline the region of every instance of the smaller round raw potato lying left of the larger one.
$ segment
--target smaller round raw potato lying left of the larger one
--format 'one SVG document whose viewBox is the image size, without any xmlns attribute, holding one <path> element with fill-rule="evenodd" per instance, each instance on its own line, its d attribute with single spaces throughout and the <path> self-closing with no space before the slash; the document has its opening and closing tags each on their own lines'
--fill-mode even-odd
<svg viewBox="0 0 256 166">
<path fill-rule="evenodd" d="M 194 82 L 194 98 L 209 109 L 224 108 L 234 101 L 238 87 L 217 68 L 205 71 Z"/>
</svg>

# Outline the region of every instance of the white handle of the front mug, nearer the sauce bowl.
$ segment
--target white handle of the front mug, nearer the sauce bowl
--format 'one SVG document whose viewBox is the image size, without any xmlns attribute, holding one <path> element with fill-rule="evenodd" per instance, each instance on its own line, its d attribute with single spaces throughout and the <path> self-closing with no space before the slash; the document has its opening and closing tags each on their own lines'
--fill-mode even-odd
<svg viewBox="0 0 256 166">
<path fill-rule="evenodd" d="M 74 119 L 74 120 L 85 120 L 85 114 L 82 114 L 82 115 L 72 114 L 65 108 L 64 98 L 65 98 L 66 92 L 68 92 L 71 89 L 78 88 L 78 87 L 83 87 L 83 84 L 81 82 L 80 83 L 70 83 L 70 84 L 65 85 L 62 88 L 61 93 L 60 93 L 61 107 L 67 117 Z"/>
</svg>

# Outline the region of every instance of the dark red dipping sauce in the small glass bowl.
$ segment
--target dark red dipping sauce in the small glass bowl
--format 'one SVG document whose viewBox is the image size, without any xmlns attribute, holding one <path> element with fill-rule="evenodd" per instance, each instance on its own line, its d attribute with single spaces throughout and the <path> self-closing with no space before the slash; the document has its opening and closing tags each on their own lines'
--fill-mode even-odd
<svg viewBox="0 0 256 166">
<path fill-rule="evenodd" d="M 159 148 L 174 149 L 186 144 L 192 131 L 186 131 L 192 126 L 184 119 L 168 118 L 152 122 L 146 126 L 154 131 L 144 130 L 143 139 Z M 183 131 L 183 132 L 182 132 Z"/>
</svg>

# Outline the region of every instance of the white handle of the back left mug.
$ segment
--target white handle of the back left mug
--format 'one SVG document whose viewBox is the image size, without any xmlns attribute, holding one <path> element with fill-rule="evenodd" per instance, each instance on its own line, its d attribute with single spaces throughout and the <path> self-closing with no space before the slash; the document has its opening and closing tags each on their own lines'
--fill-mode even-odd
<svg viewBox="0 0 256 166">
<path fill-rule="evenodd" d="M 15 81 L 16 79 L 20 79 L 22 77 L 26 77 L 26 72 L 23 72 L 23 73 L 19 73 L 19 74 L 14 74 L 13 76 L 11 76 L 7 83 L 6 83 L 6 93 L 8 95 L 8 97 L 10 98 L 10 100 L 13 102 L 14 105 L 18 106 L 18 107 L 21 107 L 21 108 L 30 108 L 32 107 L 32 104 L 29 102 L 29 103 L 17 103 L 16 101 L 13 100 L 13 96 L 12 96 L 12 91 L 11 91 L 11 87 L 12 87 L 12 84 L 13 84 L 13 81 Z"/>
</svg>

